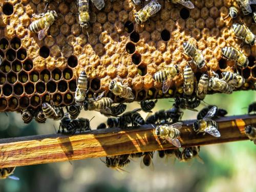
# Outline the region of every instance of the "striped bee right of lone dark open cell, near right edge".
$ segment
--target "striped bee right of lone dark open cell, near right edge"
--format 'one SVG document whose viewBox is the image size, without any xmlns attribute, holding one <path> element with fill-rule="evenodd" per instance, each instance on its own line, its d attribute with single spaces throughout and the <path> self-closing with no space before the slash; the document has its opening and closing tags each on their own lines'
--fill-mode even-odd
<svg viewBox="0 0 256 192">
<path fill-rule="evenodd" d="M 222 51 L 224 57 L 226 57 L 227 59 L 235 60 L 239 67 L 245 68 L 249 65 L 248 58 L 240 51 L 238 51 L 232 47 L 223 47 L 221 49 L 221 51 Z"/>
</svg>

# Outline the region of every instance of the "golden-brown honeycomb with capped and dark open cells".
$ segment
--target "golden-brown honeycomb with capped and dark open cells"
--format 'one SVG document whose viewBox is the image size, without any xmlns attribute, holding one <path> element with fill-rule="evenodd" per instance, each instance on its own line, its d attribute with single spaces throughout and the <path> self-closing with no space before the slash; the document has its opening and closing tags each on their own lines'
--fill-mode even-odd
<svg viewBox="0 0 256 192">
<path fill-rule="evenodd" d="M 56 106 L 70 105 L 77 74 L 82 70 L 90 78 L 89 96 L 104 90 L 115 102 L 125 101 L 108 90 L 109 82 L 117 76 L 133 89 L 137 101 L 181 95 L 182 73 L 174 78 L 166 94 L 161 91 L 162 83 L 152 76 L 170 63 L 184 69 L 190 60 L 179 50 L 184 41 L 195 44 L 206 59 L 202 69 L 192 65 L 198 81 L 208 70 L 218 74 L 234 71 L 234 61 L 224 59 L 221 48 L 242 50 L 250 63 L 239 69 L 246 79 L 240 90 L 254 89 L 256 45 L 241 45 L 232 32 L 232 20 L 223 19 L 229 7 L 236 5 L 234 0 L 192 0 L 195 8 L 191 10 L 168 1 L 158 2 L 162 5 L 160 12 L 143 26 L 134 20 L 134 12 L 141 6 L 134 6 L 131 0 L 107 0 L 101 11 L 90 3 L 91 26 L 81 29 L 75 1 L 51 1 L 45 9 L 40 0 L 0 0 L 0 111 L 36 109 L 50 99 Z M 47 9 L 55 10 L 58 18 L 39 41 L 38 34 L 28 27 L 33 13 Z M 241 15 L 236 21 L 239 19 L 256 34 L 251 15 Z"/>
</svg>

